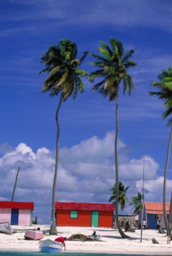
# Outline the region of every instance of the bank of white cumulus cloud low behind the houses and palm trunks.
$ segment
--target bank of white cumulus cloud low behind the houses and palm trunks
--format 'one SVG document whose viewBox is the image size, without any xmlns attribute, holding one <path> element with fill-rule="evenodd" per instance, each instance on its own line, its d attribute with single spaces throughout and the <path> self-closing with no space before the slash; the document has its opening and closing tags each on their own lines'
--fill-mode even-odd
<svg viewBox="0 0 172 256">
<path fill-rule="evenodd" d="M 119 140 L 119 175 L 128 189 L 128 199 L 143 188 L 143 158 L 129 159 Z M 34 216 L 39 223 L 50 223 L 55 151 L 45 147 L 33 152 L 25 143 L 0 158 L 0 200 L 11 200 L 17 168 L 20 173 L 15 201 L 34 201 Z M 145 200 L 160 201 L 163 178 L 157 175 L 158 163 L 145 156 Z M 56 201 L 107 203 L 115 183 L 114 133 L 93 136 L 71 148 L 60 148 Z M 168 188 L 172 181 L 168 181 Z M 129 211 L 129 206 L 126 211 Z M 44 212 L 44 214 L 42 214 Z"/>
</svg>

